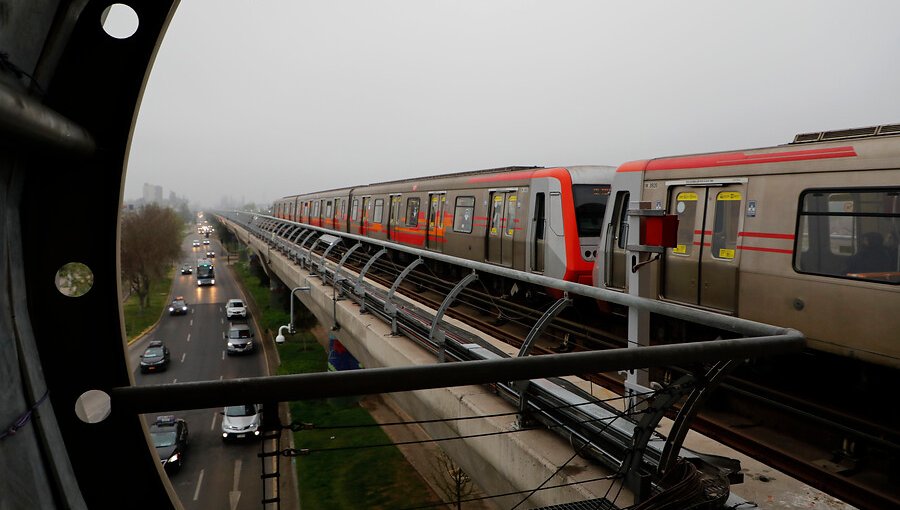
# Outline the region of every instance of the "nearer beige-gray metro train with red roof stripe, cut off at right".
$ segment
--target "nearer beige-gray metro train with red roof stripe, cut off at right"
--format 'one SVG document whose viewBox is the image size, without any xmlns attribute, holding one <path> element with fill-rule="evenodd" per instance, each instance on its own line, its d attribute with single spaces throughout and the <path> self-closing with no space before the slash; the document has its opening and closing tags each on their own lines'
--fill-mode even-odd
<svg viewBox="0 0 900 510">
<path fill-rule="evenodd" d="M 627 290 L 628 210 L 661 209 L 677 215 L 677 240 L 646 266 L 650 297 L 794 328 L 814 351 L 900 368 L 900 125 L 632 161 L 610 193 L 595 285 Z"/>
</svg>

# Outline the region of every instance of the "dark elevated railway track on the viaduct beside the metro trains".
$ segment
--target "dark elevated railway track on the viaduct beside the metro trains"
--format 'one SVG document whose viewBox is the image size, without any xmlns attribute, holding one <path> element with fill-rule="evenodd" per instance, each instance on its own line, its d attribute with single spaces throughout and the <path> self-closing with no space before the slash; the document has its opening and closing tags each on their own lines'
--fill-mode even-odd
<svg viewBox="0 0 900 510">
<path fill-rule="evenodd" d="M 269 228 L 277 230 L 277 227 Z M 257 235 L 262 238 L 269 233 L 265 227 L 256 229 Z M 313 235 L 309 239 L 315 237 Z M 317 247 L 319 243 L 316 242 L 308 243 L 307 246 L 314 249 L 307 257 L 277 241 L 273 242 L 273 246 L 294 256 L 300 263 L 318 268 L 323 279 L 332 284 L 336 271 L 321 261 L 330 260 L 332 267 L 343 262 L 341 265 L 344 268 L 360 271 L 373 260 L 371 254 L 362 251 L 345 257 L 352 241 L 347 245 L 330 241 L 327 246 L 321 247 Z M 375 248 L 369 251 L 374 252 Z M 411 259 L 403 257 L 401 260 Z M 434 310 L 441 309 L 445 296 L 452 292 L 455 283 L 434 274 L 423 265 L 404 274 L 404 269 L 408 267 L 409 265 L 404 266 L 393 258 L 378 257 L 374 263 L 368 264 L 368 276 L 385 288 L 393 286 L 396 294 L 403 295 L 405 299 Z M 459 274 L 465 272 L 460 271 L 456 276 Z M 337 295 L 358 299 L 363 309 L 382 315 L 386 321 L 396 322 L 397 308 L 385 310 L 385 295 L 372 290 L 359 296 L 358 292 L 355 293 L 358 289 L 349 278 L 338 278 L 337 284 Z M 533 297 L 531 300 L 536 301 Z M 528 306 L 492 296 L 486 288 L 478 289 L 477 285 L 470 285 L 458 293 L 453 307 L 445 308 L 448 316 L 509 345 L 521 347 L 528 333 L 541 321 L 551 304 L 552 300 L 549 300 L 536 306 Z M 402 307 L 407 319 L 401 321 L 398 333 L 417 339 L 437 356 L 445 355 L 447 359 L 458 361 L 472 359 L 472 353 L 459 346 L 471 345 L 477 339 L 448 329 L 446 337 L 453 342 L 437 345 L 433 341 L 434 333 L 431 330 L 434 323 L 432 314 L 422 312 L 417 307 L 402 304 L 397 306 Z M 574 310 L 574 313 L 569 316 L 560 314 L 544 325 L 539 338 L 530 347 L 531 353 L 585 351 L 622 347 L 626 344 L 625 338 L 614 332 L 617 329 L 621 331 L 623 326 L 612 324 L 616 327 L 610 327 L 610 320 L 615 320 L 615 317 L 603 315 L 605 323 L 596 320 L 600 314 L 587 320 L 584 317 L 578 320 L 578 310 L 570 310 Z M 678 367 L 659 370 L 667 372 L 667 380 L 677 379 L 678 375 L 686 373 L 683 368 Z M 598 373 L 583 374 L 582 377 L 602 386 L 624 391 L 621 377 Z M 507 387 L 505 390 L 507 398 L 518 401 L 520 397 L 515 388 Z M 676 399 L 669 410 L 670 416 L 677 416 L 683 397 Z M 841 409 L 839 402 L 828 405 L 825 402 L 799 398 L 777 388 L 755 383 L 741 375 L 732 375 L 718 386 L 716 394 L 709 405 L 699 412 L 695 423 L 698 431 L 857 506 L 893 508 L 900 503 L 900 495 L 891 486 L 891 473 L 896 472 L 894 459 L 897 458 L 897 445 L 900 444 L 896 430 L 881 425 L 875 419 L 850 415 Z M 786 424 L 790 425 L 785 426 Z M 835 449 L 835 444 L 849 448 L 850 451 Z M 868 454 L 865 461 L 852 458 L 852 451 L 856 448 L 859 448 L 856 451 Z"/>
</svg>

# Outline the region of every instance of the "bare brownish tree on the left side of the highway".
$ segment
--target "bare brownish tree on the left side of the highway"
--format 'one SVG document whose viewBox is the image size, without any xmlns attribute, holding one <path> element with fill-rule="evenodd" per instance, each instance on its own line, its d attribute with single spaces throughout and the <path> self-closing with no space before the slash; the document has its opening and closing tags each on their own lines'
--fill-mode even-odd
<svg viewBox="0 0 900 510">
<path fill-rule="evenodd" d="M 142 309 L 150 297 L 150 283 L 165 274 L 181 254 L 184 222 L 178 213 L 156 204 L 122 217 L 122 276 L 138 296 Z"/>
</svg>

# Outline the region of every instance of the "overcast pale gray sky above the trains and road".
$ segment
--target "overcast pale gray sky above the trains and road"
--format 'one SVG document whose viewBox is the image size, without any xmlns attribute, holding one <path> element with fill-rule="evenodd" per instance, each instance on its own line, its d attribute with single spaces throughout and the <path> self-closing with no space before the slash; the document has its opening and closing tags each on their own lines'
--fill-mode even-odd
<svg viewBox="0 0 900 510">
<path fill-rule="evenodd" d="M 182 0 L 125 198 L 618 165 L 900 122 L 900 2 Z"/>
</svg>

